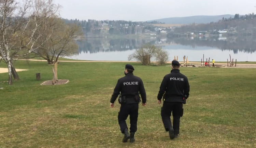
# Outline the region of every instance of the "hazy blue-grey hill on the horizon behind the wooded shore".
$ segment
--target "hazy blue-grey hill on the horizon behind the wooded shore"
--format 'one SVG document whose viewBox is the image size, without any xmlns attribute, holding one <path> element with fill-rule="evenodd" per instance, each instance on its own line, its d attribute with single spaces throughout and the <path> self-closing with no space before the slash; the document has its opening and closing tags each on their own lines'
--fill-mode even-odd
<svg viewBox="0 0 256 148">
<path fill-rule="evenodd" d="M 207 24 L 213 22 L 217 22 L 222 18 L 229 18 L 234 17 L 231 14 L 225 15 L 214 15 L 214 16 L 207 16 L 207 15 L 198 15 L 198 16 L 187 16 L 187 17 L 170 17 L 170 18 L 161 18 L 155 20 L 148 20 L 147 22 L 151 21 L 158 21 L 165 24 Z"/>
</svg>

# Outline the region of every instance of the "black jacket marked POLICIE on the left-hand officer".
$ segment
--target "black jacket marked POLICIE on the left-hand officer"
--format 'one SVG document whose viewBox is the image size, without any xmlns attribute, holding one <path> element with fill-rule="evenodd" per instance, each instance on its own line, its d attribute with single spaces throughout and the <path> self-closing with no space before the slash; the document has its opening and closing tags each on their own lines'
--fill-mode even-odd
<svg viewBox="0 0 256 148">
<path fill-rule="evenodd" d="M 134 76 L 133 73 L 127 73 L 126 76 L 118 79 L 112 97 L 110 99 L 111 103 L 114 103 L 119 92 L 122 96 L 126 98 L 141 95 L 142 103 L 146 103 L 146 92 L 143 82 L 140 77 Z"/>
</svg>

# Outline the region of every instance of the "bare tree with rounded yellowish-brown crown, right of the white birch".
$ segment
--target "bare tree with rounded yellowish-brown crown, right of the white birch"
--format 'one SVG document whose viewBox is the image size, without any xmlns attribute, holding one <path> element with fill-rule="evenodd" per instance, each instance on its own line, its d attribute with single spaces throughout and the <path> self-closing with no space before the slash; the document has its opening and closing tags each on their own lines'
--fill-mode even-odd
<svg viewBox="0 0 256 148">
<path fill-rule="evenodd" d="M 78 54 L 78 45 L 76 41 L 83 39 L 83 32 L 80 26 L 76 24 L 65 24 L 58 17 L 51 17 L 45 24 L 45 38 L 51 34 L 49 39 L 44 42 L 40 40 L 38 44 L 42 44 L 38 49 L 32 52 L 35 57 L 42 57 L 47 60 L 48 64 L 53 64 L 58 61 L 59 57 L 73 56 Z M 44 27 L 43 27 L 44 28 Z"/>
</svg>

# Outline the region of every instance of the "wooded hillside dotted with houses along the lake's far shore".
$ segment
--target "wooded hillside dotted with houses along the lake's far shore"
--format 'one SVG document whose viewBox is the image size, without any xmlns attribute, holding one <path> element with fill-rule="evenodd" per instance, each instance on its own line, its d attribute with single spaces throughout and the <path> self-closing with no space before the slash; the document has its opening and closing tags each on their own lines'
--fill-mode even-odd
<svg viewBox="0 0 256 148">
<path fill-rule="evenodd" d="M 186 19 L 186 17 L 184 17 Z M 255 35 L 256 34 L 256 15 L 236 14 L 234 17 L 225 18 L 206 24 L 193 23 L 190 25 L 177 25 L 172 27 L 156 27 L 162 24 L 158 21 L 134 22 L 125 20 L 68 20 L 66 23 L 75 23 L 83 28 L 87 37 L 106 37 L 112 35 L 146 35 L 146 34 L 165 34 L 168 36 L 189 35 L 191 32 L 209 32 L 209 34 L 219 34 L 220 30 L 226 30 L 226 35 Z M 205 33 L 204 33 L 205 34 Z"/>
</svg>

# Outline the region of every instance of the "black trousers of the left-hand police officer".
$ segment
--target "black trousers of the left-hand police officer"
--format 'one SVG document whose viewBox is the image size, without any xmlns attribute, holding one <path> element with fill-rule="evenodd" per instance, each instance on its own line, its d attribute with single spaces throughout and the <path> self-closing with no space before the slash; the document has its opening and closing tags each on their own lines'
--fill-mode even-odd
<svg viewBox="0 0 256 148">
<path fill-rule="evenodd" d="M 120 111 L 118 112 L 118 123 L 122 133 L 124 133 L 125 129 L 128 129 L 125 121 L 128 115 L 130 115 L 130 132 L 135 133 L 137 131 L 138 111 L 138 103 L 121 104 Z"/>
</svg>

